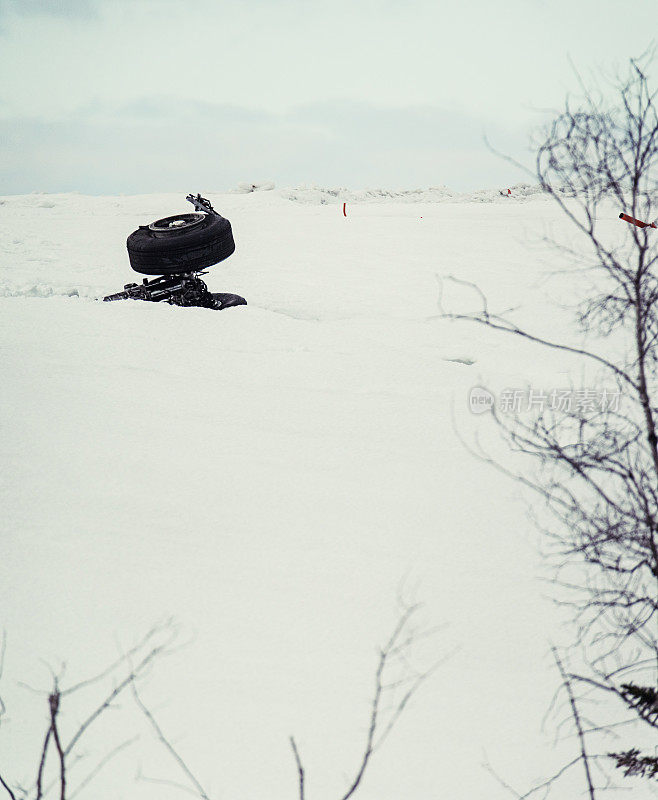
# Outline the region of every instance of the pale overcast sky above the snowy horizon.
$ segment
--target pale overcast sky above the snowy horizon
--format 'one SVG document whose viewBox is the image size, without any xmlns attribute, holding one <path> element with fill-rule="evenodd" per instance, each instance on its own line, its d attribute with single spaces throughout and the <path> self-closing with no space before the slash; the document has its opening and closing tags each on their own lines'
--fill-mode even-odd
<svg viewBox="0 0 658 800">
<path fill-rule="evenodd" d="M 0 0 L 0 194 L 457 190 L 523 176 L 655 0 Z M 540 110 L 538 110 L 540 109 Z"/>
</svg>

